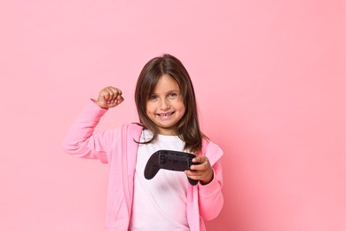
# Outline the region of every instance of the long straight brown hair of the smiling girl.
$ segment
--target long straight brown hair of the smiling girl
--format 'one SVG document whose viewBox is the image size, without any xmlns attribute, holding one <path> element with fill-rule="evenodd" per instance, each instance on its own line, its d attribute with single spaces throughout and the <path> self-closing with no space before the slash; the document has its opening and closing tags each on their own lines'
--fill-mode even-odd
<svg viewBox="0 0 346 231">
<path fill-rule="evenodd" d="M 202 139 L 208 138 L 200 130 L 193 83 L 182 62 L 169 54 L 149 60 L 138 77 L 135 101 L 139 122 L 153 132 L 153 139 L 145 143 L 157 139 L 159 132 L 156 124 L 146 116 L 146 102 L 163 75 L 168 75 L 177 82 L 184 100 L 185 115 L 177 123 L 177 136 L 185 142 L 185 149 L 198 153 L 201 151 Z"/>
</svg>

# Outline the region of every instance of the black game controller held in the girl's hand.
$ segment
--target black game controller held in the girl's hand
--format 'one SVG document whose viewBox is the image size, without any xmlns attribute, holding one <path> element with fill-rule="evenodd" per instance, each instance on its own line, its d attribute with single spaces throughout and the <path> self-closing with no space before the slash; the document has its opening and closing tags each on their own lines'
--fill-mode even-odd
<svg viewBox="0 0 346 231">
<path fill-rule="evenodd" d="M 160 169 L 171 171 L 190 170 L 191 165 L 198 164 L 193 163 L 194 157 L 196 157 L 196 155 L 191 153 L 171 150 L 159 150 L 154 152 L 145 165 L 145 179 L 153 179 Z M 197 185 L 198 183 L 197 179 L 187 179 L 193 186 Z"/>
</svg>

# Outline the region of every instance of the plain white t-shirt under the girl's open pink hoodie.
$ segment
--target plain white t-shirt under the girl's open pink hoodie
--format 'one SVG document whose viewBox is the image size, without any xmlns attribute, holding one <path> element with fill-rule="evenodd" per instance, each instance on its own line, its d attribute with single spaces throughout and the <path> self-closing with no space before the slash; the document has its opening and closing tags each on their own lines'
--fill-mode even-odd
<svg viewBox="0 0 346 231">
<path fill-rule="evenodd" d="M 141 141 L 152 137 L 144 130 Z M 130 220 L 131 231 L 188 231 L 184 171 L 159 170 L 153 179 L 145 179 L 146 162 L 160 149 L 183 151 L 185 142 L 177 136 L 159 135 L 157 141 L 139 144 L 135 188 Z"/>
</svg>

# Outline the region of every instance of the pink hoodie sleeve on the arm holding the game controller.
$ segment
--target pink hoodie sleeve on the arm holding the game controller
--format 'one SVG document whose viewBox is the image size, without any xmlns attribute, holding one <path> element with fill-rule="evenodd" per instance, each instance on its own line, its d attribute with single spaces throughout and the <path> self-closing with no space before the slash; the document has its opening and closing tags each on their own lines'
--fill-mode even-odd
<svg viewBox="0 0 346 231">
<path fill-rule="evenodd" d="M 214 178 L 208 185 L 198 184 L 200 214 L 203 219 L 215 219 L 224 206 L 224 195 L 221 191 L 223 175 L 221 156 L 223 150 L 213 143 L 208 144 L 206 156 L 214 170 Z"/>
</svg>

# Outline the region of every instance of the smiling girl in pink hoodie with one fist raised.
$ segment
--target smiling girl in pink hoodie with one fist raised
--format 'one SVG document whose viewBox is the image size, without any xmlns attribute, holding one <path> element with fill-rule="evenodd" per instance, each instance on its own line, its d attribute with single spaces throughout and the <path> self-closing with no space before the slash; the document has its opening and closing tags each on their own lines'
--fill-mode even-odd
<svg viewBox="0 0 346 231">
<path fill-rule="evenodd" d="M 64 141 L 67 153 L 110 164 L 106 230 L 205 230 L 203 219 L 215 219 L 224 204 L 223 151 L 200 130 L 185 67 L 169 54 L 147 62 L 135 91 L 139 123 L 94 132 L 106 111 L 123 100 L 118 88 L 101 90 Z M 145 179 L 145 164 L 160 149 L 193 153 L 198 164 L 185 172 L 161 170 Z M 199 183 L 192 186 L 186 175 Z"/>
</svg>

